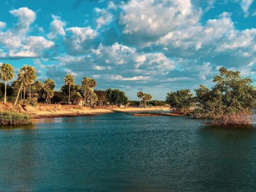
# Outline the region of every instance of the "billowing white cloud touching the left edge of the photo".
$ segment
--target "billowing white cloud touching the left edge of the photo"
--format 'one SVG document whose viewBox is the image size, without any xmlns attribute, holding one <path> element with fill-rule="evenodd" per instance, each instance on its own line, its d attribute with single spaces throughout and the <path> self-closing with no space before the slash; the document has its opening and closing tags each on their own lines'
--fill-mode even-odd
<svg viewBox="0 0 256 192">
<path fill-rule="evenodd" d="M 30 58 L 44 56 L 46 50 L 54 46 L 54 42 L 43 36 L 29 36 L 30 25 L 34 22 L 36 14 L 27 7 L 11 10 L 10 13 L 18 17 L 13 29 L 0 31 L 1 58 Z M 2 25 L 1 25 L 2 24 Z M 5 23 L 0 23 L 4 28 Z"/>
</svg>

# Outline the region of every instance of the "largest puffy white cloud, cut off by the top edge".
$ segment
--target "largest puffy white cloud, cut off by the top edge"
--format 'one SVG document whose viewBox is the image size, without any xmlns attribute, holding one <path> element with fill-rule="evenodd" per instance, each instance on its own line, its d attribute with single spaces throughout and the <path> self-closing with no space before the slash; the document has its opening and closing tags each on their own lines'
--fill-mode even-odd
<svg viewBox="0 0 256 192">
<path fill-rule="evenodd" d="M 190 0 L 131 0 L 121 10 L 122 33 L 126 38 L 144 41 L 142 46 L 177 28 L 198 23 L 201 16 L 201 10 Z"/>
</svg>

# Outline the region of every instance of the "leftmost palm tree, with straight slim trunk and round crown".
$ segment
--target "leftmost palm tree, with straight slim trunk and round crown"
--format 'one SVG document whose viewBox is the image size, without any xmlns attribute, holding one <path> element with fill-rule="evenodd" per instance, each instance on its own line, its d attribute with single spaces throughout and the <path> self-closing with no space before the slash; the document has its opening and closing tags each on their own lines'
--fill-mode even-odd
<svg viewBox="0 0 256 192">
<path fill-rule="evenodd" d="M 4 103 L 6 103 L 6 88 L 7 88 L 7 81 L 11 80 L 14 77 L 14 69 L 8 63 L 3 63 L 0 67 L 0 77 L 3 81 L 5 81 L 5 98 Z"/>
</svg>

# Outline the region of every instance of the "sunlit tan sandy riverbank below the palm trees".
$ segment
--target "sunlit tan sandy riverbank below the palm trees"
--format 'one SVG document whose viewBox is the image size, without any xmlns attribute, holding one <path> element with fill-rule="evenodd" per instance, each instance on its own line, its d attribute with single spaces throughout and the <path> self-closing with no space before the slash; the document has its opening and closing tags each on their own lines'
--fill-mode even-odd
<svg viewBox="0 0 256 192">
<path fill-rule="evenodd" d="M 40 118 L 57 118 L 57 117 L 76 117 L 88 115 L 101 115 L 116 112 L 148 112 L 162 110 L 161 106 L 152 106 L 151 108 L 96 108 L 91 109 L 86 106 L 79 105 L 60 105 L 60 104 L 38 104 L 35 108 L 29 105 L 13 105 L 11 103 L 0 103 L 0 111 L 16 111 L 26 113 L 33 119 Z M 164 108 L 164 110 L 168 110 Z"/>
</svg>

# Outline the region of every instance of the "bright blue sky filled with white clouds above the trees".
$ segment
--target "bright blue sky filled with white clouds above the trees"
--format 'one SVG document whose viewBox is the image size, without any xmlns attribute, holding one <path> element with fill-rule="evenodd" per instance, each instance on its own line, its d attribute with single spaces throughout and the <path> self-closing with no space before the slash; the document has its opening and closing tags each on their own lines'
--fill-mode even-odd
<svg viewBox="0 0 256 192">
<path fill-rule="evenodd" d="M 132 100 L 210 88 L 220 67 L 256 82 L 256 0 L 1 0 L 0 12 L 0 63 L 34 66 L 56 90 L 68 73 Z"/>
</svg>

